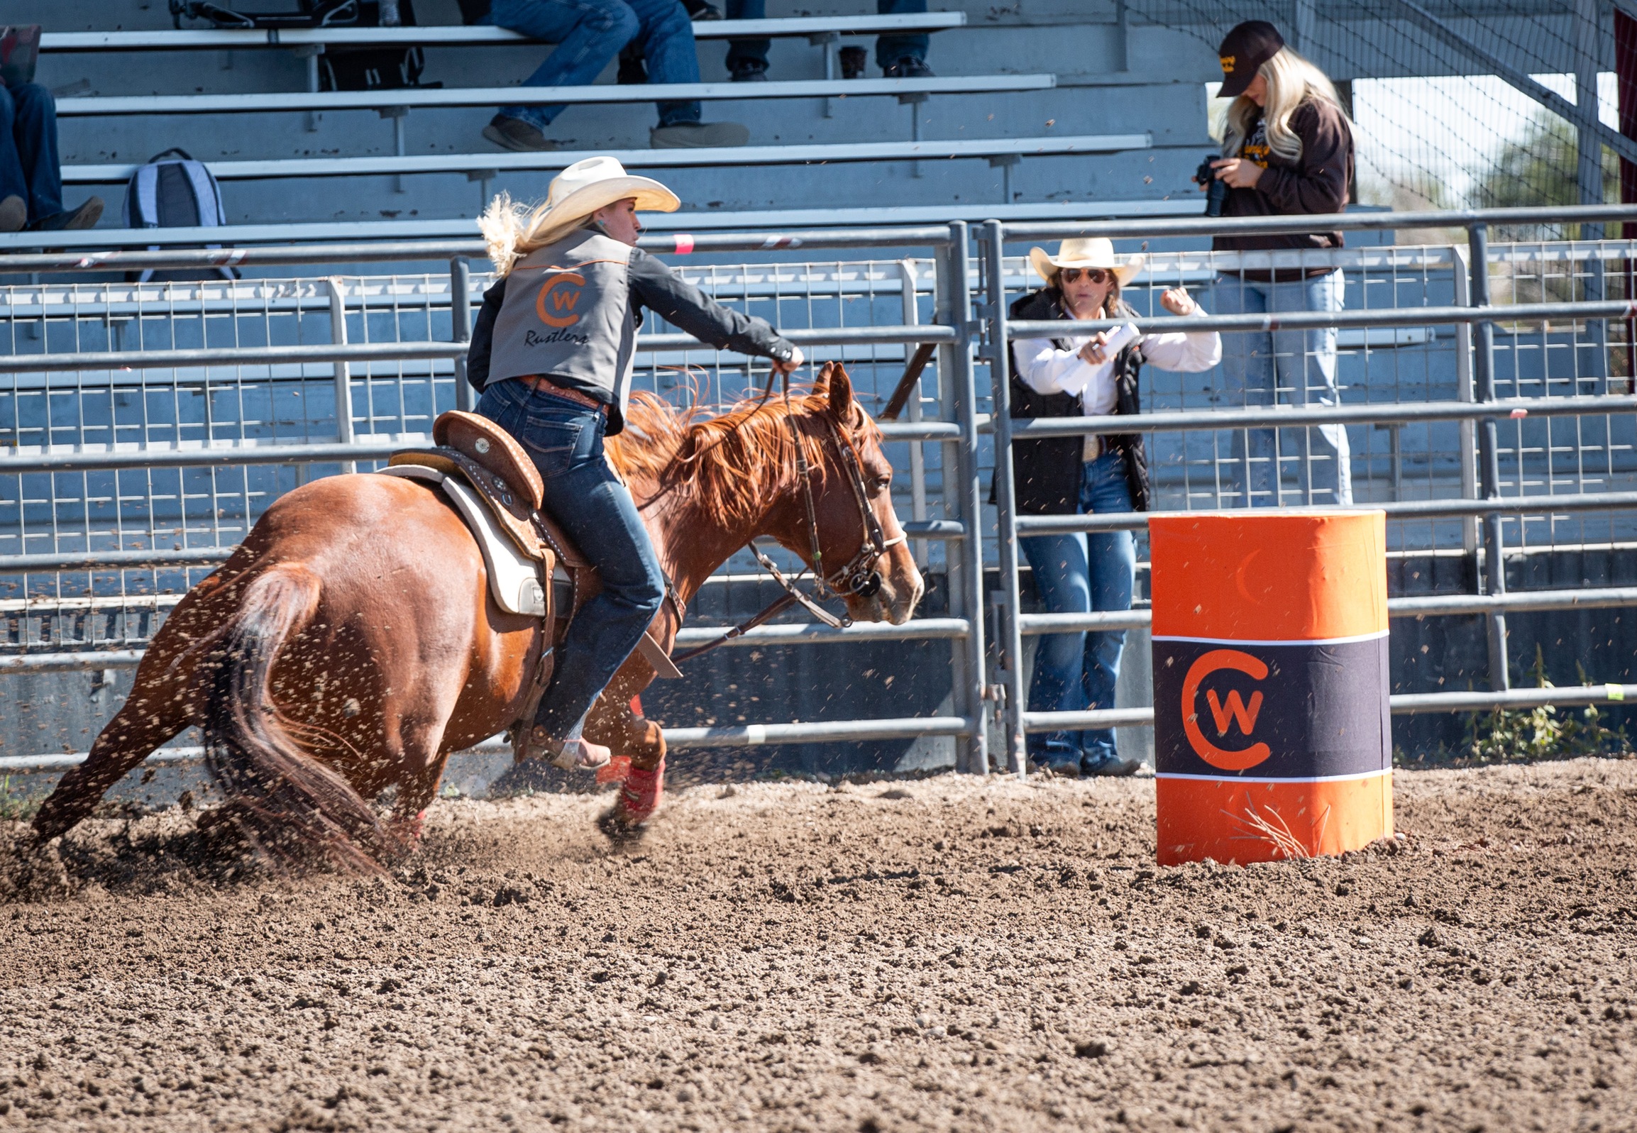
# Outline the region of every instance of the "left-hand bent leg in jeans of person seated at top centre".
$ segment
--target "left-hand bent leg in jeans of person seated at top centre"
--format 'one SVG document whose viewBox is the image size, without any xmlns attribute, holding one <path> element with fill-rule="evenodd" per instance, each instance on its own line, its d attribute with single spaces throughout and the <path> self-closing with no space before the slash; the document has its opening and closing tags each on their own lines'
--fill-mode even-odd
<svg viewBox="0 0 1637 1133">
<path fill-rule="evenodd" d="M 640 29 L 625 0 L 494 0 L 491 18 L 499 28 L 557 44 L 524 87 L 589 87 Z M 557 149 L 545 128 L 563 110 L 561 103 L 501 106 L 483 136 L 503 149 Z"/>
</svg>

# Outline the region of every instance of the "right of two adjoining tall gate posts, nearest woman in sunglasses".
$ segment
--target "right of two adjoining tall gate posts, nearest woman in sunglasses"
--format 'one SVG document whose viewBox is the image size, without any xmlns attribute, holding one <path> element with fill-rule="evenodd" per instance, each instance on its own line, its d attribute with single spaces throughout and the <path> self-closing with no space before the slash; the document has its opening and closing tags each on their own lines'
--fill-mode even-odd
<svg viewBox="0 0 1637 1133">
<path fill-rule="evenodd" d="M 1018 614 L 1018 534 L 1012 486 L 1012 391 L 1008 388 L 1007 350 L 1007 278 L 1005 237 L 1000 221 L 984 223 L 984 282 L 989 303 L 989 378 L 994 388 L 995 429 L 995 542 L 1000 550 L 1000 684 L 1005 706 L 1002 720 L 1007 761 L 1017 774 L 1028 773 L 1023 740 L 1023 635 Z"/>
</svg>

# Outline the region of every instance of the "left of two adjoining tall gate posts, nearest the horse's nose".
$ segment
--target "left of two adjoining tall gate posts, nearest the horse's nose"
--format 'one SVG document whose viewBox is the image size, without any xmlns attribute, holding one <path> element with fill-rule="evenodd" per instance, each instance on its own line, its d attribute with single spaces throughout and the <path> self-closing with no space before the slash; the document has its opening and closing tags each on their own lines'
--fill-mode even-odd
<svg viewBox="0 0 1637 1133">
<path fill-rule="evenodd" d="M 961 524 L 966 527 L 966 539 L 959 544 L 959 570 L 953 562 L 949 547 L 945 545 L 943 558 L 951 580 L 951 601 L 959 599 L 961 617 L 971 627 L 966 635 L 966 648 L 961 665 L 956 666 L 961 693 L 954 697 L 956 709 L 972 722 L 972 730 L 966 737 L 966 770 L 976 774 L 989 774 L 989 735 L 984 730 L 984 498 L 977 475 L 977 383 L 972 377 L 972 293 L 966 277 L 971 267 L 966 221 L 949 224 L 949 247 L 945 252 L 945 287 L 948 293 L 948 319 L 954 327 L 954 345 L 949 347 L 949 390 L 954 399 L 954 421 L 961 427 L 961 439 L 954 445 L 945 447 L 943 462 L 943 499 L 945 509 L 954 504 Z M 954 449 L 954 468 L 949 468 L 948 454 Z M 959 591 L 954 591 L 954 580 L 959 580 Z"/>
</svg>

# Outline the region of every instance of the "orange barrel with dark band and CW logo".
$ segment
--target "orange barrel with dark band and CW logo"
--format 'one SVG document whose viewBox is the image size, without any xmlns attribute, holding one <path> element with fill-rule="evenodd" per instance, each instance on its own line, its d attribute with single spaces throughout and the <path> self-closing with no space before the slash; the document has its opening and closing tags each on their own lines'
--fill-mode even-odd
<svg viewBox="0 0 1637 1133">
<path fill-rule="evenodd" d="M 1159 863 L 1393 832 L 1387 514 L 1156 516 Z"/>
</svg>

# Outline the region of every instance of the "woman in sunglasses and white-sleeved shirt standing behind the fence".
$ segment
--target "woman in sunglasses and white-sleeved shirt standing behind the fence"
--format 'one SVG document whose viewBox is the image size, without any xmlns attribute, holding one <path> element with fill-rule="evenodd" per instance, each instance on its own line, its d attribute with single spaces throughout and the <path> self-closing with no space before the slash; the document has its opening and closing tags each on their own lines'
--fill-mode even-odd
<svg viewBox="0 0 1637 1133">
<path fill-rule="evenodd" d="M 1013 319 L 1120 319 L 1136 313 L 1120 296 L 1143 257 L 1115 255 L 1107 239 L 1064 241 L 1056 255 L 1030 249 L 1046 287 L 1012 305 Z M 1182 288 L 1161 295 L 1172 314 L 1203 314 Z M 1020 339 L 1012 344 L 1012 416 L 1136 414 L 1144 362 L 1166 370 L 1210 370 L 1221 359 L 1215 332 L 1113 334 Z M 1139 434 L 1018 440 L 1012 455 L 1023 514 L 1148 511 L 1148 460 Z M 1020 540 L 1041 604 L 1053 614 L 1131 609 L 1136 550 L 1128 530 L 1031 535 Z M 1035 652 L 1030 712 L 1115 706 L 1125 632 L 1049 634 Z M 1115 750 L 1113 729 L 1030 735 L 1030 758 L 1067 774 L 1131 774 L 1141 766 Z"/>
</svg>

